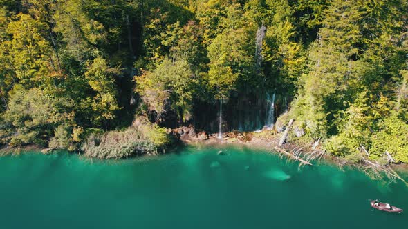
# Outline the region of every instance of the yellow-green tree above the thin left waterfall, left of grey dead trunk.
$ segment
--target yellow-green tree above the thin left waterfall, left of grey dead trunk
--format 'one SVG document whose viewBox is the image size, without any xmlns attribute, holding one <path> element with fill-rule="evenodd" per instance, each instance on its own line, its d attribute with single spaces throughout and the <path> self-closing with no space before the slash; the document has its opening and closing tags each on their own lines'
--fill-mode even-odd
<svg viewBox="0 0 408 229">
<path fill-rule="evenodd" d="M 256 27 L 238 3 L 226 7 L 219 20 L 221 31 L 207 48 L 208 83 L 216 99 L 227 99 L 232 90 L 259 85 L 253 77 Z"/>
</svg>

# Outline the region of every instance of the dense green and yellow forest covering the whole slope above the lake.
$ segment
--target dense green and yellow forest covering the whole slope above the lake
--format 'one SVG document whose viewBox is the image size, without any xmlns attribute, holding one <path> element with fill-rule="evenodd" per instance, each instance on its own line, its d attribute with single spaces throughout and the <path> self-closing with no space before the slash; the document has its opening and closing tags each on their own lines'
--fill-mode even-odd
<svg viewBox="0 0 408 229">
<path fill-rule="evenodd" d="M 276 94 L 302 141 L 408 162 L 407 0 L 0 0 L 0 47 L 3 146 L 127 157 Z"/>
</svg>

